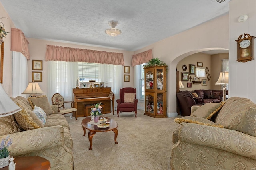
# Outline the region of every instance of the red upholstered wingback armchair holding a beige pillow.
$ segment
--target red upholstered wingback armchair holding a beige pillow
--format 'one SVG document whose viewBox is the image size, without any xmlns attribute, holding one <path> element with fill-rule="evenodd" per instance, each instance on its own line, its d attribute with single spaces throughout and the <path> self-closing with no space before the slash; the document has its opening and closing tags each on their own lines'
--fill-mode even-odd
<svg viewBox="0 0 256 170">
<path fill-rule="evenodd" d="M 119 117 L 119 111 L 123 112 L 135 112 L 137 117 L 137 103 L 136 89 L 132 87 L 125 87 L 120 89 L 120 99 L 117 99 L 117 117 Z"/>
</svg>

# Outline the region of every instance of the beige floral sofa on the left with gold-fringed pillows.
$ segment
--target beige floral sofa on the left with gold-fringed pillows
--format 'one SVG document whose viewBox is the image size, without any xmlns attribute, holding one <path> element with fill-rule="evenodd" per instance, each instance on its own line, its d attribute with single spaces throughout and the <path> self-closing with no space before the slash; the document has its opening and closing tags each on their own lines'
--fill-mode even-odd
<svg viewBox="0 0 256 170">
<path fill-rule="evenodd" d="M 73 141 L 58 106 L 50 105 L 46 96 L 11 99 L 22 111 L 0 117 L 0 140 L 9 135 L 13 141 L 10 156 L 41 156 L 50 161 L 51 170 L 73 170 Z M 44 124 L 33 112 L 35 105 L 46 113 Z"/>
</svg>

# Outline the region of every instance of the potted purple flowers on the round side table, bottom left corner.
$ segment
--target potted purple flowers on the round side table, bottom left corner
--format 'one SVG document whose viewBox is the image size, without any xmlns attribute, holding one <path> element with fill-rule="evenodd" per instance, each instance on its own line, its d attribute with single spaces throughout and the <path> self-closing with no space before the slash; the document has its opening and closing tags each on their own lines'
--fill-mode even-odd
<svg viewBox="0 0 256 170">
<path fill-rule="evenodd" d="M 2 140 L 0 144 L 0 168 L 6 167 L 9 164 L 9 146 L 12 144 L 12 139 L 9 139 L 9 135 Z"/>
</svg>

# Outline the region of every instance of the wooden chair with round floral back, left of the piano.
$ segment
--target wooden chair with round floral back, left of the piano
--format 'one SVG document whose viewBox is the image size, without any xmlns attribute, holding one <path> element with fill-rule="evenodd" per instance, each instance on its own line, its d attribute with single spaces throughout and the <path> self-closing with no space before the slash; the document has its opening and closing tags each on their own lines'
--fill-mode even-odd
<svg viewBox="0 0 256 170">
<path fill-rule="evenodd" d="M 71 103 L 71 107 L 70 108 L 65 108 L 64 107 L 64 103 Z M 74 108 L 74 102 L 73 101 L 64 101 L 64 98 L 62 95 L 60 95 L 59 93 L 55 93 L 52 96 L 52 104 L 53 105 L 58 105 L 59 108 L 59 113 L 62 115 L 65 115 L 67 113 L 73 113 L 73 116 L 76 117 L 77 119 L 77 115 L 76 115 L 76 111 L 77 109 Z"/>
</svg>

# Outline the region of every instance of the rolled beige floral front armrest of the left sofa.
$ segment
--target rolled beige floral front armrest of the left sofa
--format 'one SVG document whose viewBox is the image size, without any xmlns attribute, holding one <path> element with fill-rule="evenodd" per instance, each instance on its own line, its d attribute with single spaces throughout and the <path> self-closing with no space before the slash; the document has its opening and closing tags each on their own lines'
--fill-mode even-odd
<svg viewBox="0 0 256 170">
<path fill-rule="evenodd" d="M 0 136 L 0 140 L 10 136 L 10 156 L 43 151 L 64 145 L 64 128 L 60 125 L 44 127 Z"/>
</svg>

